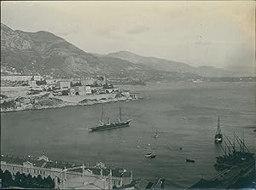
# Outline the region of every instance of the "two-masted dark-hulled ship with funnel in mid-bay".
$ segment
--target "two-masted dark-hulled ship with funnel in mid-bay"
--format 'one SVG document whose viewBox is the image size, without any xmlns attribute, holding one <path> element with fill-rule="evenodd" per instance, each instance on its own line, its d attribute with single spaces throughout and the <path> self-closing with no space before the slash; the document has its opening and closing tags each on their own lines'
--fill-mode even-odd
<svg viewBox="0 0 256 190">
<path fill-rule="evenodd" d="M 119 107 L 119 121 L 116 122 L 116 123 L 111 123 L 109 118 L 108 118 L 108 123 L 104 123 L 103 114 L 104 114 L 104 109 L 103 109 L 103 104 L 102 104 L 102 119 L 100 120 L 101 124 L 99 124 L 96 127 L 90 127 L 89 128 L 90 132 L 97 131 L 97 130 L 112 130 L 112 129 L 121 128 L 121 127 L 128 127 L 130 125 L 131 120 L 132 120 L 132 119 L 128 119 L 124 122 L 122 121 L 121 107 Z"/>
</svg>

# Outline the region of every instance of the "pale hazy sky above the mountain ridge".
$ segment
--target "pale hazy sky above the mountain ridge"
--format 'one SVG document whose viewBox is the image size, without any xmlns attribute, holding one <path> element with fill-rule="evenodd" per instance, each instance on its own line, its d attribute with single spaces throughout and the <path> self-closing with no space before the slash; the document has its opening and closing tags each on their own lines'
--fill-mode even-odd
<svg viewBox="0 0 256 190">
<path fill-rule="evenodd" d="M 255 2 L 1 2 L 1 22 L 86 52 L 128 50 L 191 66 L 253 66 Z"/>
</svg>

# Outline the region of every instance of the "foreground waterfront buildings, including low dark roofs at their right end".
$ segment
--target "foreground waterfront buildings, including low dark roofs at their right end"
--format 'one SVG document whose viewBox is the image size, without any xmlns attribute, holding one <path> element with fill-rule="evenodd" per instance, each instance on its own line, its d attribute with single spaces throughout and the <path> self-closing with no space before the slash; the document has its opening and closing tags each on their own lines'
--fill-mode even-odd
<svg viewBox="0 0 256 190">
<path fill-rule="evenodd" d="M 55 180 L 55 189 L 151 189 L 164 188 L 163 178 L 153 181 L 133 179 L 132 171 L 120 168 L 108 168 L 102 162 L 94 166 L 89 164 L 70 164 L 52 161 L 44 154 L 38 159 L 28 155 L 18 158 L 1 155 L 1 170 L 8 170 L 12 176 L 17 172 L 32 177 L 50 176 Z"/>
</svg>

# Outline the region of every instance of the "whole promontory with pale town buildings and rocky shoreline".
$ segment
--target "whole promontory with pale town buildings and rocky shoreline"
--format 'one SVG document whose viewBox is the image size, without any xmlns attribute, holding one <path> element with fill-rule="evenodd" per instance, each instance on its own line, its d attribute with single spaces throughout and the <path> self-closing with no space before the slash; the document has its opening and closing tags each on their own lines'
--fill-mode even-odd
<svg viewBox="0 0 256 190">
<path fill-rule="evenodd" d="M 115 87 L 99 75 L 94 78 L 6 75 L 1 76 L 0 98 L 1 112 L 7 112 L 137 100 L 137 95 Z"/>
</svg>

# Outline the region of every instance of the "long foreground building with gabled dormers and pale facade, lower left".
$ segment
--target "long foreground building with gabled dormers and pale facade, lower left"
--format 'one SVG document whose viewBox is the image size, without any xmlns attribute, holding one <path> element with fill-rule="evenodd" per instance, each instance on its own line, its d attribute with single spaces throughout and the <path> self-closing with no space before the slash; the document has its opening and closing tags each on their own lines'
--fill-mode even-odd
<svg viewBox="0 0 256 190">
<path fill-rule="evenodd" d="M 1 170 L 9 170 L 12 175 L 18 171 L 25 175 L 42 176 L 46 178 L 50 176 L 55 179 L 55 185 L 66 188 L 66 184 L 76 186 L 75 181 L 84 183 L 86 179 L 95 181 L 96 186 L 102 184 L 102 187 L 122 187 L 130 184 L 132 181 L 132 172 L 125 169 L 108 169 L 105 164 L 99 163 L 95 166 L 84 166 L 79 164 L 69 164 L 61 161 L 51 161 L 45 155 L 38 159 L 27 157 L 17 158 L 8 155 L 1 155 Z M 73 179 L 73 180 L 72 180 Z M 77 180 L 76 180 L 77 179 Z M 79 183 L 79 182 L 78 182 Z M 86 183 L 86 184 L 90 184 Z M 62 184 L 62 185 L 60 185 Z"/>
</svg>

